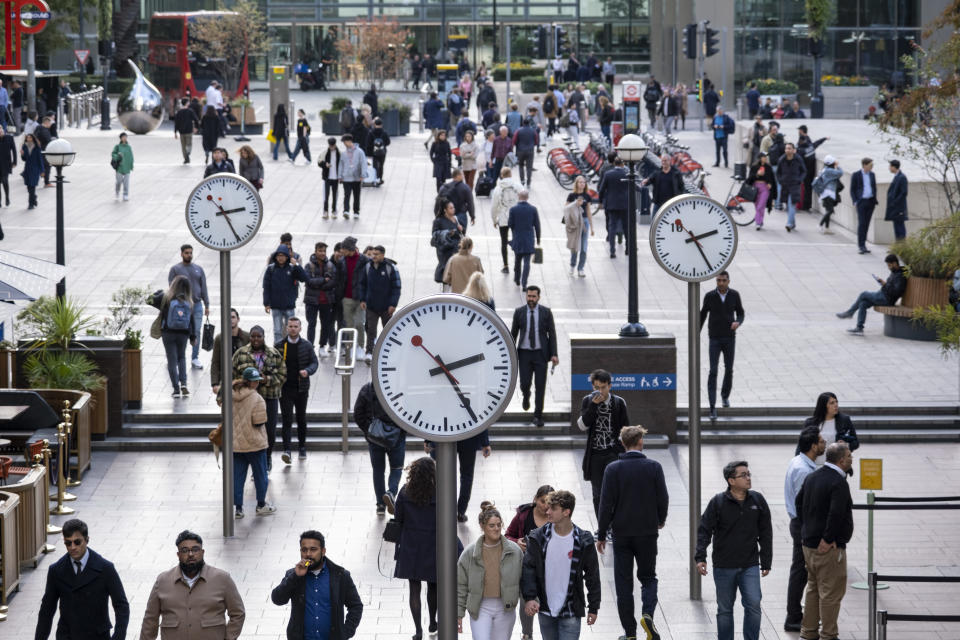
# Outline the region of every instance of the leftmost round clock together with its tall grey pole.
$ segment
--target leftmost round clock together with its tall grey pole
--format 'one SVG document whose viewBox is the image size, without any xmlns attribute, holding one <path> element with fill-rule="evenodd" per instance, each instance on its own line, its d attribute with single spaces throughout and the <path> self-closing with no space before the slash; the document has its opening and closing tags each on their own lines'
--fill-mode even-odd
<svg viewBox="0 0 960 640">
<path fill-rule="evenodd" d="M 230 335 L 230 252 L 250 242 L 263 222 L 260 192 L 232 173 L 204 178 L 187 197 L 187 227 L 197 242 L 220 252 L 220 335 Z M 199 334 L 199 332 L 197 332 Z M 199 339 L 199 337 L 198 337 Z M 226 343 L 225 343 L 226 344 Z M 220 350 L 221 445 L 223 452 L 223 536 L 233 536 L 233 362 Z M 269 455 L 269 452 L 268 452 Z"/>
</svg>

